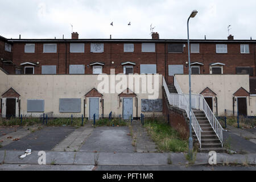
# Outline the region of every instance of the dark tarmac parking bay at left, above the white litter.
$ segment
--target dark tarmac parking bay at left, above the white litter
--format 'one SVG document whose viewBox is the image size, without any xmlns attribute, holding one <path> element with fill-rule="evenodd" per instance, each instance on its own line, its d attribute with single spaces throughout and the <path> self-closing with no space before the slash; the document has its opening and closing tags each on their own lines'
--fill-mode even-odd
<svg viewBox="0 0 256 182">
<path fill-rule="evenodd" d="M 18 130 L 15 133 L 21 132 L 26 134 L 25 137 L 20 140 L 12 141 L 10 144 L 3 146 L 0 150 L 22 150 L 26 151 L 28 148 L 31 150 L 51 150 L 60 143 L 61 140 L 72 133 L 75 127 L 44 127 L 42 130 L 35 131 L 27 135 L 26 131 Z"/>
</svg>

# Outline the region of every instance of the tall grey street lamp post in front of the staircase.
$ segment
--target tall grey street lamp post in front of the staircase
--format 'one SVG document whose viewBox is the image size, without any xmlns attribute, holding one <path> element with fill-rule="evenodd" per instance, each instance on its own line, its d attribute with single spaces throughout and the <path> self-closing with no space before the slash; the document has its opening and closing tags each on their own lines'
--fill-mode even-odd
<svg viewBox="0 0 256 182">
<path fill-rule="evenodd" d="M 190 16 L 188 17 L 188 22 L 190 18 L 194 18 L 197 14 L 197 10 L 193 10 Z M 187 28 L 188 28 L 187 22 Z M 188 28 L 188 79 L 189 79 L 189 139 L 188 139 L 188 152 L 189 156 L 192 159 L 192 150 L 193 150 L 193 139 L 192 139 L 192 128 L 191 128 L 191 67 L 190 67 L 190 45 L 189 45 L 189 28 Z"/>
</svg>

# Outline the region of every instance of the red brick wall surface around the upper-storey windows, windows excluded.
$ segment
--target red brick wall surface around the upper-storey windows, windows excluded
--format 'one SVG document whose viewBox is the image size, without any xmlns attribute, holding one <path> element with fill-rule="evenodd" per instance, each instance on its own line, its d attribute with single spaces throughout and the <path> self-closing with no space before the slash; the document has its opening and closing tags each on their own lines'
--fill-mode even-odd
<svg viewBox="0 0 256 182">
<path fill-rule="evenodd" d="M 184 44 L 184 42 L 180 42 Z M 123 43 L 112 42 L 104 43 L 103 53 L 91 53 L 90 43 L 85 42 L 84 53 L 69 53 L 69 43 L 67 43 L 67 55 L 65 43 L 57 43 L 57 53 L 43 53 L 43 43 L 35 43 L 35 53 L 24 53 L 25 43 L 14 43 L 13 61 L 16 65 L 26 61 L 40 64 L 35 68 L 35 74 L 41 73 L 42 65 L 57 65 L 57 74 L 69 73 L 69 64 L 84 64 L 85 73 L 92 74 L 92 67 L 87 67 L 92 62 L 105 63 L 102 72 L 110 73 L 110 68 L 115 68 L 115 73 L 123 73 L 121 63 L 131 61 L 136 63 L 134 73 L 140 73 L 140 64 L 156 64 L 159 74 L 167 75 L 168 82 L 172 82 L 172 77 L 168 76 L 168 65 L 183 64 L 184 74 L 188 74 L 187 44 L 185 44 L 183 53 L 167 53 L 168 43 L 156 43 L 156 51 L 153 53 L 141 52 L 141 43 L 134 42 L 134 52 L 123 52 Z M 254 68 L 255 73 L 255 44 L 250 44 L 250 53 L 240 53 L 240 43 L 227 43 L 228 53 L 216 53 L 216 43 L 200 43 L 200 53 L 191 53 L 191 62 L 201 62 L 204 65 L 200 67 L 201 74 L 209 74 L 209 64 L 221 62 L 224 63 L 224 74 L 235 74 L 236 67 L 245 66 Z M 67 56 L 67 66 L 66 66 Z M 112 64 L 114 61 L 114 64 Z"/>
</svg>

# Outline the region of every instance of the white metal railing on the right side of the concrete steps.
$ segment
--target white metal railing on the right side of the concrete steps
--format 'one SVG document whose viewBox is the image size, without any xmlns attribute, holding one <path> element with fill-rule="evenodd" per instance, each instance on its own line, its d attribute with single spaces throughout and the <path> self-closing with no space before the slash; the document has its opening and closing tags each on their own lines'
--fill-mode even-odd
<svg viewBox="0 0 256 182">
<path fill-rule="evenodd" d="M 185 94 L 187 98 L 189 98 L 189 94 Z M 220 142 L 223 147 L 223 136 L 222 136 L 222 126 L 220 122 L 218 122 L 218 119 L 213 114 L 212 110 L 210 109 L 209 105 L 207 104 L 207 101 L 205 101 L 204 96 L 201 94 L 192 94 L 191 95 L 191 107 L 193 109 L 197 110 L 203 110 L 210 125 L 212 126 L 214 132 L 216 133 L 218 139 L 220 139 Z"/>
</svg>

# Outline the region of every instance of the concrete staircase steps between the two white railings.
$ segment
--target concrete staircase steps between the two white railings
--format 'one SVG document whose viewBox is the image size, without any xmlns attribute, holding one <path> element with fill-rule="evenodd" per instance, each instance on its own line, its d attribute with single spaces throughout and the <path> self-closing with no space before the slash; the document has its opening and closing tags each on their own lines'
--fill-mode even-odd
<svg viewBox="0 0 256 182">
<path fill-rule="evenodd" d="M 167 85 L 167 86 L 170 93 L 177 93 L 177 90 L 174 85 Z M 168 103 L 165 91 L 164 91 L 164 97 L 166 98 L 166 102 Z M 220 139 L 218 139 L 204 111 L 193 109 L 193 113 L 195 114 L 195 117 L 199 122 L 201 129 L 203 130 L 203 132 L 201 132 L 201 148 L 200 148 L 196 134 L 192 129 L 192 137 L 194 142 L 198 144 L 199 151 L 200 152 L 209 152 L 209 151 L 225 152 L 224 148 L 222 148 L 221 146 Z M 188 115 L 186 112 L 184 112 L 184 117 L 187 119 L 187 121 L 189 121 Z"/>
</svg>

